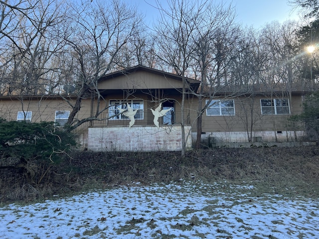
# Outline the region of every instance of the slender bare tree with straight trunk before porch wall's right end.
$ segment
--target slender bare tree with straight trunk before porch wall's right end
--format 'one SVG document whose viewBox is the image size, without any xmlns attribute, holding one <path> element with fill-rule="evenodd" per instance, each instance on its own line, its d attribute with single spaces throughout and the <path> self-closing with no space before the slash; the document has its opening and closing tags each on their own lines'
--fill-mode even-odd
<svg viewBox="0 0 319 239">
<path fill-rule="evenodd" d="M 157 0 L 160 9 L 160 20 L 156 26 L 157 48 L 160 49 L 158 57 L 168 67 L 182 77 L 181 99 L 181 155 L 185 155 L 185 100 L 189 93 L 186 81 L 188 71 L 193 63 L 194 38 L 197 24 L 202 20 L 207 2 L 192 2 L 187 0 L 168 0 L 168 9 L 164 9 Z"/>
</svg>

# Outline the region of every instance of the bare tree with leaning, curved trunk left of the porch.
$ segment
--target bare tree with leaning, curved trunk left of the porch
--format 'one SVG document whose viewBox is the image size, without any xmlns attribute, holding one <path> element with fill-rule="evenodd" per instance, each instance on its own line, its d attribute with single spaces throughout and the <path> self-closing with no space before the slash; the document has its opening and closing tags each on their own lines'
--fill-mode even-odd
<svg viewBox="0 0 319 239">
<path fill-rule="evenodd" d="M 136 8 L 120 0 L 107 2 L 85 1 L 81 5 L 70 6 L 71 24 L 68 27 L 67 43 L 70 47 L 70 59 L 76 67 L 76 101 L 72 103 L 68 130 L 73 130 L 84 122 L 101 120 L 99 116 L 108 108 L 102 107 L 103 96 L 98 90 L 99 79 L 107 73 L 126 67 L 129 63 L 120 61 L 120 54 L 129 54 L 129 44 L 139 33 L 141 17 Z M 128 62 L 130 59 L 128 59 Z M 97 104 L 94 114 L 85 119 L 76 119 L 82 100 L 94 94 Z"/>
</svg>

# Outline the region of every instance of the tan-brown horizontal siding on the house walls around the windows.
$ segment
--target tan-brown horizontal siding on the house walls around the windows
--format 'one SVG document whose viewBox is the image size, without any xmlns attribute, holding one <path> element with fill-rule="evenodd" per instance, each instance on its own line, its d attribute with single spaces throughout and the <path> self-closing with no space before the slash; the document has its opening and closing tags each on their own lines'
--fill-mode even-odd
<svg viewBox="0 0 319 239">
<path fill-rule="evenodd" d="M 168 96 L 167 98 L 175 101 L 175 123 L 181 122 L 181 106 L 179 96 Z M 123 95 L 112 95 L 101 103 L 101 108 L 109 105 L 110 100 L 122 100 Z M 155 109 L 158 106 L 159 101 L 155 100 L 148 94 L 137 94 L 132 96 L 131 99 L 141 99 L 144 102 L 144 119 L 137 119 L 136 125 L 154 125 L 154 116 L 151 112 L 151 108 Z M 290 125 L 287 119 L 290 115 L 261 115 L 260 99 L 269 99 L 267 97 L 255 97 L 251 98 L 238 98 L 235 100 L 235 116 L 207 116 L 204 112 L 202 117 L 202 131 L 203 132 L 224 132 L 224 131 L 247 131 L 247 125 L 250 130 L 251 125 L 251 106 L 253 108 L 253 130 L 254 131 L 284 131 L 287 130 Z M 278 98 L 279 99 L 279 98 Z M 73 101 L 74 102 L 74 101 Z M 205 99 L 203 100 L 203 106 L 205 105 Z M 291 113 L 293 115 L 300 114 L 302 112 L 302 97 L 293 96 L 290 103 Z M 197 98 L 186 99 L 185 102 L 185 124 L 190 123 L 192 125 L 192 131 L 196 132 L 196 117 L 197 117 Z M 23 107 L 23 108 L 22 108 Z M 95 114 L 96 101 L 93 104 L 93 113 Z M 18 111 L 32 111 L 32 122 L 39 121 L 54 121 L 55 111 L 71 111 L 71 107 L 62 99 L 42 99 L 42 100 L 0 100 L 0 118 L 7 120 L 16 120 Z M 101 119 L 106 118 L 109 111 L 101 115 Z M 246 114 L 247 113 L 247 114 Z M 81 109 L 77 119 L 88 118 L 91 115 L 91 100 L 85 99 L 82 101 Z M 190 121 L 187 122 L 187 116 L 190 116 Z M 248 118 L 248 121 L 246 120 Z M 128 126 L 129 120 L 95 120 L 94 126 L 106 126 L 106 125 L 121 125 Z M 85 123 L 82 127 L 92 125 Z"/>
</svg>

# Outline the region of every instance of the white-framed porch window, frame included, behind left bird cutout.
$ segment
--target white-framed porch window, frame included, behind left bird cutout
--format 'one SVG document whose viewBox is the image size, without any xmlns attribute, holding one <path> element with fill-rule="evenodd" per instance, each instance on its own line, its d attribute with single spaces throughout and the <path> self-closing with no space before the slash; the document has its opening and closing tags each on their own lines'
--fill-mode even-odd
<svg viewBox="0 0 319 239">
<path fill-rule="evenodd" d="M 111 104 L 112 103 L 112 104 Z M 113 104 L 116 103 L 116 104 Z M 109 101 L 109 120 L 125 120 L 129 119 L 128 117 L 124 116 L 123 114 L 120 114 L 120 111 L 116 108 L 121 106 L 120 109 L 126 109 L 127 103 L 129 103 L 132 110 L 138 110 L 136 115 L 134 116 L 134 119 L 141 120 L 144 119 L 144 101 L 143 100 L 110 100 Z M 139 108 L 135 108 L 134 106 L 139 103 Z M 133 105 L 133 107 L 132 107 Z M 142 112 L 141 112 L 142 111 Z M 111 112 L 114 112 L 111 114 Z M 117 116 L 116 116 L 117 115 Z M 137 118 L 137 116 L 141 115 L 141 118 Z"/>
</svg>

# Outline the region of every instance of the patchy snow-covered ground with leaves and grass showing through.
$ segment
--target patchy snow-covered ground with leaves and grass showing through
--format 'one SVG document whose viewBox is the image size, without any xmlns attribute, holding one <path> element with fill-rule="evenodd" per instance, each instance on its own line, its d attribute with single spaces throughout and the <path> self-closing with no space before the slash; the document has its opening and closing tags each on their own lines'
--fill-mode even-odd
<svg viewBox="0 0 319 239">
<path fill-rule="evenodd" d="M 319 238 L 319 200 L 250 197 L 252 186 L 134 184 L 0 207 L 1 239 Z M 245 192 L 245 193 L 243 193 Z"/>
</svg>

